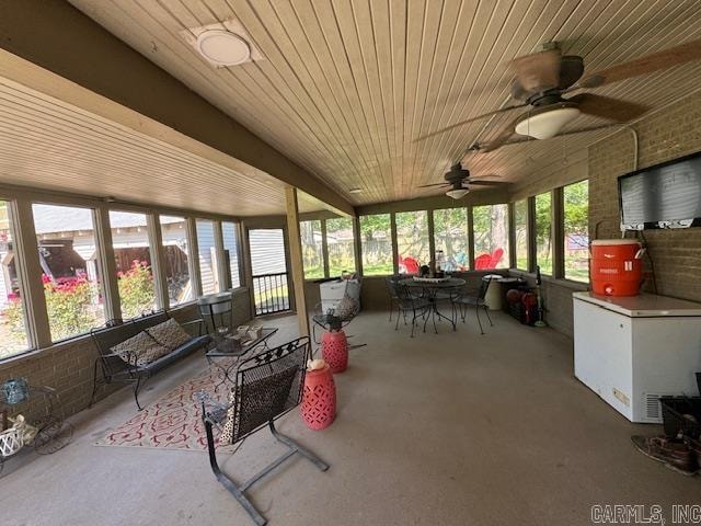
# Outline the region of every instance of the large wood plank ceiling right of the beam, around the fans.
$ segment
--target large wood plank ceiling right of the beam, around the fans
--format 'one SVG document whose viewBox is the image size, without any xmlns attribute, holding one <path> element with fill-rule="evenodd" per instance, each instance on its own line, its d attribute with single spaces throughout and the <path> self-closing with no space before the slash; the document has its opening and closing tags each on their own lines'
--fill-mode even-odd
<svg viewBox="0 0 701 526">
<path fill-rule="evenodd" d="M 514 114 L 416 142 L 509 102 L 508 62 L 558 41 L 586 69 L 701 36 L 696 0 L 70 0 L 354 204 L 439 191 L 457 159 L 505 181 L 609 132 L 464 156 Z M 264 57 L 215 69 L 182 32 L 238 20 Z M 698 89 L 701 64 L 591 90 L 660 107 Z M 605 124 L 579 117 L 567 129 Z M 360 194 L 349 194 L 355 187 Z"/>
</svg>

